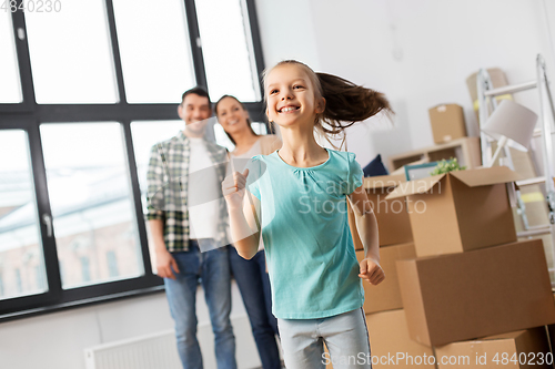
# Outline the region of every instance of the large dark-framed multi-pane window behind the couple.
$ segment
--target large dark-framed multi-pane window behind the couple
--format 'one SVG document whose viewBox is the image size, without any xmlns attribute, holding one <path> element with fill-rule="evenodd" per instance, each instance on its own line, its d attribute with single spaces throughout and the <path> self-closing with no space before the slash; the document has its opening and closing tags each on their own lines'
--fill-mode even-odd
<svg viewBox="0 0 555 369">
<path fill-rule="evenodd" d="M 0 12 L 0 320 L 163 289 L 144 222 L 149 150 L 183 129 L 194 85 L 263 122 L 262 70 L 254 0 Z"/>
</svg>

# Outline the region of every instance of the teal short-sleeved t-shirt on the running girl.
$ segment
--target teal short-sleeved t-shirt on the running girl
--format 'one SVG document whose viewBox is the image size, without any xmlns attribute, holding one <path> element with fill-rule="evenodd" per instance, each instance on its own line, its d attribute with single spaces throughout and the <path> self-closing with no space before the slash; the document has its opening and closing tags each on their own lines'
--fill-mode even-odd
<svg viewBox="0 0 555 369">
<path fill-rule="evenodd" d="M 246 186 L 261 201 L 272 311 L 280 319 L 324 318 L 364 303 L 346 207 L 362 170 L 353 153 L 327 153 L 313 167 L 291 166 L 278 152 L 248 164 Z"/>
</svg>

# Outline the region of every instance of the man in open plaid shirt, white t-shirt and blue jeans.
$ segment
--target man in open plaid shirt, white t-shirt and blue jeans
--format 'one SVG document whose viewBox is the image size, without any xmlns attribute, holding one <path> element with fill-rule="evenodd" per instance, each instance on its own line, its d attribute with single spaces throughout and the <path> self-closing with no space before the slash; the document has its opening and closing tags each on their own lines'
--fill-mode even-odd
<svg viewBox="0 0 555 369">
<path fill-rule="evenodd" d="M 184 130 L 152 147 L 148 170 L 147 219 L 158 275 L 164 278 L 183 368 L 202 368 L 195 314 L 200 280 L 210 310 L 218 368 L 235 369 L 229 246 L 223 246 L 228 244 L 226 211 L 221 194 L 226 152 L 203 139 L 212 115 L 206 91 L 186 91 L 178 113 L 185 122 Z"/>
</svg>

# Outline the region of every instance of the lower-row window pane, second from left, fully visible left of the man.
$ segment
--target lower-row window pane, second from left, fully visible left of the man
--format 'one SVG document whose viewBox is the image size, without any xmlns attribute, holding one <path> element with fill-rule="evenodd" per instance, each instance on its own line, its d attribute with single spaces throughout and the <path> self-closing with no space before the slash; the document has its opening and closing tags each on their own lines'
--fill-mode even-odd
<svg viewBox="0 0 555 369">
<path fill-rule="evenodd" d="M 40 126 L 62 287 L 143 275 L 131 184 L 119 123 Z M 117 250 L 111 276 L 108 250 Z"/>
</svg>

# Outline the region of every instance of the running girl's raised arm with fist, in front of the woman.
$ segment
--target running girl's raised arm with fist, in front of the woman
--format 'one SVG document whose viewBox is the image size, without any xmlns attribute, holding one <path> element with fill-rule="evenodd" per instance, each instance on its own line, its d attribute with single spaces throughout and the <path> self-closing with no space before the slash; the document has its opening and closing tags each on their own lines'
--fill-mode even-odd
<svg viewBox="0 0 555 369">
<path fill-rule="evenodd" d="M 260 199 L 245 189 L 249 170 L 234 172 L 222 183 L 228 203 L 232 243 L 238 254 L 250 259 L 256 255 L 260 242 Z M 246 194 L 246 196 L 245 196 Z"/>
</svg>

